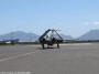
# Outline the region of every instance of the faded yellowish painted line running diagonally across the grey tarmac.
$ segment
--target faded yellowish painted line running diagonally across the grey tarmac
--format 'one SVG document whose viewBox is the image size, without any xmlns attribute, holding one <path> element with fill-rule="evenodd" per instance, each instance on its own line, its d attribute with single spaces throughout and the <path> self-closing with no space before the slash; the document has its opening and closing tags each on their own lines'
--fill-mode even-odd
<svg viewBox="0 0 99 74">
<path fill-rule="evenodd" d="M 19 54 L 19 55 L 14 55 L 14 56 L 4 57 L 4 59 L 1 59 L 0 62 L 4 62 L 4 61 L 9 61 L 9 60 L 26 56 L 26 55 L 30 55 L 30 54 L 36 53 L 36 52 L 37 51 L 33 51 L 33 52 L 29 52 L 29 53 L 24 53 L 24 54 Z"/>
</svg>

